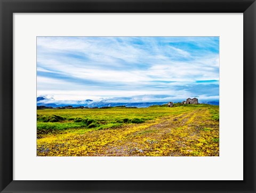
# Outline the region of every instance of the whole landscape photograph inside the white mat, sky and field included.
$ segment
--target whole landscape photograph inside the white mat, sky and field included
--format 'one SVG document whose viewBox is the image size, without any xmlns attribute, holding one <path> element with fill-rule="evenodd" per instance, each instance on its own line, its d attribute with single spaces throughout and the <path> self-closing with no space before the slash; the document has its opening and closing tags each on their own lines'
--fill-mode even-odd
<svg viewBox="0 0 256 193">
<path fill-rule="evenodd" d="M 37 36 L 37 156 L 219 156 L 218 36 Z"/>
</svg>

